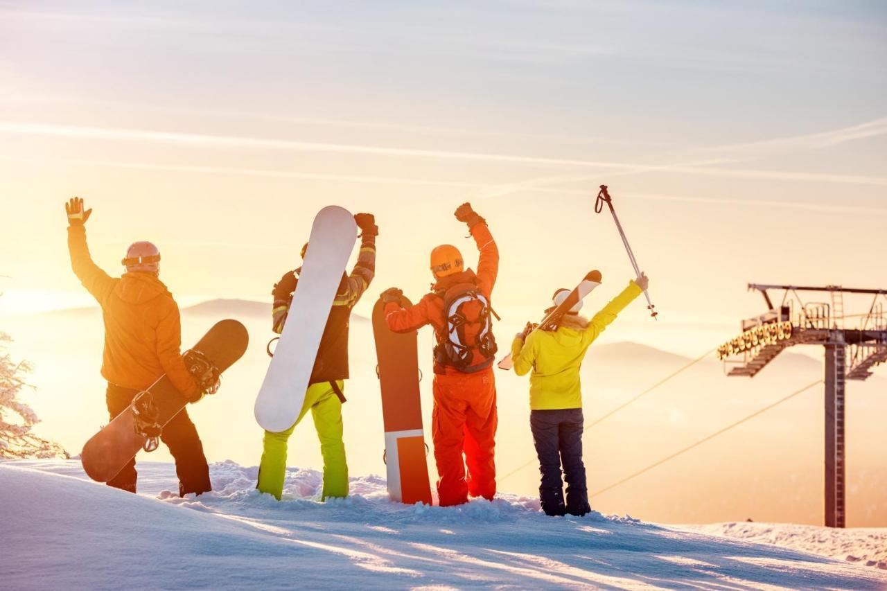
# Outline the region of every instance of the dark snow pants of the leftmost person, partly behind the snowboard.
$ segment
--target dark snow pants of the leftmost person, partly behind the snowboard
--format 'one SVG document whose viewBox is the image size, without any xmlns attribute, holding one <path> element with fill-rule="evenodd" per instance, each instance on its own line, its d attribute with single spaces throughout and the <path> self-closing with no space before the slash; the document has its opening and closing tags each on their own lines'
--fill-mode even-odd
<svg viewBox="0 0 887 591">
<path fill-rule="evenodd" d="M 138 390 L 130 390 L 108 383 L 105 398 L 111 418 L 113 419 L 126 410 L 137 393 Z M 169 447 L 169 453 L 176 460 L 179 496 L 184 497 L 188 493 L 207 493 L 212 490 L 212 485 L 209 484 L 207 458 L 203 455 L 203 444 L 200 443 L 197 428 L 191 422 L 186 409 L 173 417 L 172 421 L 163 428 L 161 441 Z M 135 493 L 137 477 L 136 459 L 133 458 L 107 484 Z"/>
</svg>

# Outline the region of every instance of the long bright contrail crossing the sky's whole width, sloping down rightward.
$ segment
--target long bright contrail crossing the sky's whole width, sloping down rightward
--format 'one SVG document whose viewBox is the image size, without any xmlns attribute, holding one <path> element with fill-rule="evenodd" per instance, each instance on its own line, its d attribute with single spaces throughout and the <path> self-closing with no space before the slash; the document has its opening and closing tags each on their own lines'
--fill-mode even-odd
<svg viewBox="0 0 887 591">
<path fill-rule="evenodd" d="M 339 154 L 369 154 L 377 156 L 404 156 L 448 160 L 467 160 L 475 162 L 504 162 L 565 168 L 608 168 L 616 170 L 649 169 L 717 177 L 754 177 L 784 180 L 810 180 L 816 182 L 831 182 L 855 185 L 887 185 L 887 178 L 885 177 L 836 175 L 812 172 L 788 172 L 779 170 L 724 168 L 718 169 L 698 165 L 651 165 L 565 158 L 543 158 L 538 156 L 520 156 L 514 154 L 484 154 L 477 152 L 457 152 L 451 150 L 426 150 L 385 146 L 356 146 L 349 144 L 300 142 L 287 139 L 242 138 L 237 136 L 216 136 L 168 131 L 108 129 L 100 127 L 51 125 L 44 123 L 3 122 L 0 123 L 0 133 L 42 135 L 64 138 L 148 141 L 211 147 L 271 148 L 316 153 L 328 152 Z"/>
</svg>

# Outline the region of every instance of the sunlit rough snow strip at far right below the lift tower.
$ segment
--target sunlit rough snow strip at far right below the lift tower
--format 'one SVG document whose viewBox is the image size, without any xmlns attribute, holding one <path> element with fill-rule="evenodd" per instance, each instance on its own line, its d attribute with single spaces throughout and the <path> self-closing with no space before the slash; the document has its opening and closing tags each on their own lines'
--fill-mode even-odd
<svg viewBox="0 0 887 591">
<path fill-rule="evenodd" d="M 795 524 L 709 524 L 687 529 L 775 544 L 887 570 L 887 527 L 833 529 Z"/>
</svg>

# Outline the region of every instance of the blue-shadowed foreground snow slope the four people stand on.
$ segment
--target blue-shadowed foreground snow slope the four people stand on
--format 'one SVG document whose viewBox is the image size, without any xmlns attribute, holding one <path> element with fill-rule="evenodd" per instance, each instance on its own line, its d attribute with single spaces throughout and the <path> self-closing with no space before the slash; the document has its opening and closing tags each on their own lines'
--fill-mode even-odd
<svg viewBox="0 0 887 591">
<path fill-rule="evenodd" d="M 216 491 L 178 499 L 169 464 L 140 464 L 141 494 L 86 481 L 76 461 L 0 463 L 5 588 L 884 588 L 887 573 L 794 550 L 593 513 L 551 518 L 503 494 L 407 507 L 379 477 L 320 503 L 320 475 L 212 466 Z"/>
</svg>

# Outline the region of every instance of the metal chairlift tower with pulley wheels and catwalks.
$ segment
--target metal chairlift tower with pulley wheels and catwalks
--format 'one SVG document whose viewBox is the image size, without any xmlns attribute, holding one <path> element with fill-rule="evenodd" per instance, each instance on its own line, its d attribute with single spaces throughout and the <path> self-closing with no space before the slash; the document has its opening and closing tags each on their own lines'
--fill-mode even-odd
<svg viewBox="0 0 887 591">
<path fill-rule="evenodd" d="M 887 300 L 887 289 L 750 283 L 749 290 L 753 289 L 764 296 L 767 311 L 742 320 L 742 334 L 718 347 L 718 359 L 727 375 L 754 377 L 792 345 L 825 348 L 825 524 L 844 527 L 844 382 L 865 380 L 872 367 L 887 361 L 887 314 L 882 301 Z M 782 291 L 778 306 L 768 290 Z M 823 301 L 805 302 L 801 294 L 808 292 L 819 294 Z M 846 295 L 872 296 L 868 311 L 845 314 Z"/>
</svg>

